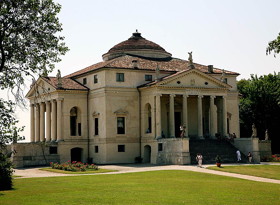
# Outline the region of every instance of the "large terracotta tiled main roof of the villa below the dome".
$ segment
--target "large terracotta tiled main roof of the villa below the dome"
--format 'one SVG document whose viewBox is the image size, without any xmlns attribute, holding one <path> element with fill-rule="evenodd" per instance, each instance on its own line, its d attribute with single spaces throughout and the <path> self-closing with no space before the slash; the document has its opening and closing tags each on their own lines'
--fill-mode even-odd
<svg viewBox="0 0 280 205">
<path fill-rule="evenodd" d="M 138 68 L 132 67 L 132 61 L 137 61 Z M 210 74 L 222 74 L 221 69 L 213 68 L 213 72 L 208 71 L 208 66 L 200 65 L 197 63 L 193 63 L 195 68 L 200 70 L 203 73 Z M 114 58 L 109 61 L 103 61 L 94 65 L 91 65 L 85 69 L 67 75 L 65 77 L 74 77 L 77 75 L 81 75 L 83 73 L 87 73 L 100 68 L 116 68 L 116 69 L 140 69 L 140 70 L 155 70 L 156 66 L 159 65 L 160 71 L 173 71 L 180 72 L 189 70 L 188 66 L 190 65 L 189 61 L 181 60 L 178 58 L 150 58 L 150 57 L 142 57 L 136 56 L 132 54 L 124 54 L 120 57 Z M 239 75 L 239 73 L 225 71 L 226 74 Z"/>
</svg>

